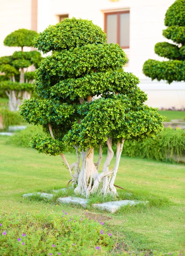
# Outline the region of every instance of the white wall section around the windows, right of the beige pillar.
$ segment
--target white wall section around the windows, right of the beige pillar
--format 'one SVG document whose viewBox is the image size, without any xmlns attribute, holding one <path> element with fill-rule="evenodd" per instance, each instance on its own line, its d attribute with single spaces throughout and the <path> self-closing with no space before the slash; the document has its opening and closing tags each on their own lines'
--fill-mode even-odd
<svg viewBox="0 0 185 256">
<path fill-rule="evenodd" d="M 162 36 L 165 13 L 174 0 L 38 0 L 38 31 L 59 20 L 58 15 L 93 20 L 104 29 L 104 12 L 130 9 L 130 49 L 124 49 L 129 64 L 124 71 L 140 79 L 140 88 L 148 94 L 148 105 L 159 108 L 185 108 L 185 83 L 151 81 L 142 73 L 144 62 L 153 58 L 163 60 L 154 52 L 154 45 L 168 41 Z"/>
</svg>

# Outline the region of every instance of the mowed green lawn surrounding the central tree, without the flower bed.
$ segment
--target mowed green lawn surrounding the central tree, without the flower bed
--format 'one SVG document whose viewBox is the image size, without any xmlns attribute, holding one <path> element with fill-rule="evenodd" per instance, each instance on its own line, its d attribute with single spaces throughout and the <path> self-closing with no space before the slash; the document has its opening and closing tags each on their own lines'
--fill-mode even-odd
<svg viewBox="0 0 185 256">
<path fill-rule="evenodd" d="M 7 145 L 6 140 L 6 137 L 0 137 L 0 211 L 61 216 L 65 209 L 69 217 L 79 215 L 84 218 L 85 209 L 81 207 L 23 200 L 24 193 L 66 187 L 70 176 L 61 157 L 49 157 L 32 148 Z M 70 163 L 76 161 L 72 153 L 66 153 L 66 158 Z M 102 163 L 104 159 L 105 156 Z M 182 253 L 185 249 L 184 181 L 183 164 L 121 158 L 116 185 L 136 194 L 156 196 L 159 200 L 167 198 L 169 204 L 146 209 L 130 207 L 117 214 L 90 209 L 88 214 L 104 221 L 119 245 L 113 250 L 114 255 L 123 250 L 132 255 L 140 252 L 151 255 L 153 252 L 155 255 Z"/>
</svg>

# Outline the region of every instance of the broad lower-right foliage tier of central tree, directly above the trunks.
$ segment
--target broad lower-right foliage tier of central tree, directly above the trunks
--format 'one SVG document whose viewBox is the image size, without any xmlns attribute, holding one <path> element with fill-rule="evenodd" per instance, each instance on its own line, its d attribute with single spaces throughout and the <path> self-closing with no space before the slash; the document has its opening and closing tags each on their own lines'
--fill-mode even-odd
<svg viewBox="0 0 185 256">
<path fill-rule="evenodd" d="M 75 123 L 64 136 L 64 142 L 87 149 L 104 145 L 107 137 L 113 137 L 115 142 L 121 138 L 143 140 L 155 137 L 163 129 L 164 118 L 156 109 L 134 103 L 132 98 L 122 95 L 95 100 L 89 105 L 81 124 Z"/>
</svg>

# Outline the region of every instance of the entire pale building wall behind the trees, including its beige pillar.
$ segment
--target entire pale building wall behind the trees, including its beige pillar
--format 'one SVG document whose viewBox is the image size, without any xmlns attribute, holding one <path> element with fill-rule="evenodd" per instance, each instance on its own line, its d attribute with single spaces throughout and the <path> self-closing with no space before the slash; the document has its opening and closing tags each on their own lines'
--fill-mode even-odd
<svg viewBox="0 0 185 256">
<path fill-rule="evenodd" d="M 104 29 L 104 12 L 130 9 L 130 49 L 124 71 L 139 77 L 140 87 L 148 94 L 147 104 L 160 108 L 185 108 L 185 83 L 166 84 L 151 81 L 142 73 L 144 62 L 153 58 L 154 45 L 168 41 L 162 36 L 164 17 L 174 0 L 0 0 L 0 56 L 12 55 L 16 47 L 5 47 L 3 40 L 16 29 L 37 29 L 42 32 L 50 24 L 59 22 L 59 15 L 93 20 Z M 36 13 L 38 12 L 38 14 Z M 26 49 L 25 49 L 26 50 Z"/>
</svg>

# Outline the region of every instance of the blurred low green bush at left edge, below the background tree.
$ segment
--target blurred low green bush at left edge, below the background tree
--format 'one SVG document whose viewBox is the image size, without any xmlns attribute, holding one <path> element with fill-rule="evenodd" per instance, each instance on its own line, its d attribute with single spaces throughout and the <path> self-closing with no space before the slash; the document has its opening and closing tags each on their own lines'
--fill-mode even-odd
<svg viewBox="0 0 185 256">
<path fill-rule="evenodd" d="M 3 129 L 7 130 L 9 125 L 20 125 L 22 121 L 19 113 L 9 111 L 7 109 L 0 109 L 0 115 L 3 117 Z"/>
</svg>

